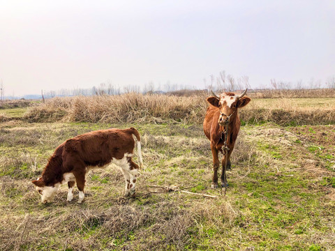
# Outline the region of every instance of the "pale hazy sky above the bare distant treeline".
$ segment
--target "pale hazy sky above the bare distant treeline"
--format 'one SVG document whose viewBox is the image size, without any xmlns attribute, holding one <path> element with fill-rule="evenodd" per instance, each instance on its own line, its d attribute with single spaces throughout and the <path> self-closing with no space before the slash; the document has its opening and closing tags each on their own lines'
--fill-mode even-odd
<svg viewBox="0 0 335 251">
<path fill-rule="evenodd" d="M 205 89 L 223 70 L 252 88 L 325 83 L 334 27 L 333 0 L 0 0 L 0 84 L 5 96 L 106 82 Z"/>
</svg>

